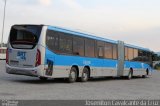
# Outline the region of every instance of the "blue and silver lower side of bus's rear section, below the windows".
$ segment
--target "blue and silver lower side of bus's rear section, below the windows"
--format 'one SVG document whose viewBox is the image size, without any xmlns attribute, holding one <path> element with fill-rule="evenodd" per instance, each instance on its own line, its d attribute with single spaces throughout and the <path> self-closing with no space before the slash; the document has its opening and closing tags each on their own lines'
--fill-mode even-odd
<svg viewBox="0 0 160 106">
<path fill-rule="evenodd" d="M 50 64 L 51 62 L 53 62 L 53 64 Z M 70 69 L 73 65 L 78 66 L 79 77 L 81 77 L 85 66 L 90 67 L 91 77 L 116 76 L 117 74 L 117 60 L 58 55 L 48 49 L 46 49 L 45 65 L 46 69 L 53 67 L 51 68 L 51 71 L 53 72 L 50 74 L 45 73 L 47 77 L 52 78 L 68 77 Z"/>
</svg>

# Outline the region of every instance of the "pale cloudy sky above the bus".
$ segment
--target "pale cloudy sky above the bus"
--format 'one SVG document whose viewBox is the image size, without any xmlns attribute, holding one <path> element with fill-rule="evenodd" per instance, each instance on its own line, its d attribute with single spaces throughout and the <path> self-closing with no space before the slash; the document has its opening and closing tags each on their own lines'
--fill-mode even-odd
<svg viewBox="0 0 160 106">
<path fill-rule="evenodd" d="M 3 7 L 0 0 L 0 35 Z M 4 42 L 14 24 L 60 26 L 160 51 L 160 0 L 7 0 Z"/>
</svg>

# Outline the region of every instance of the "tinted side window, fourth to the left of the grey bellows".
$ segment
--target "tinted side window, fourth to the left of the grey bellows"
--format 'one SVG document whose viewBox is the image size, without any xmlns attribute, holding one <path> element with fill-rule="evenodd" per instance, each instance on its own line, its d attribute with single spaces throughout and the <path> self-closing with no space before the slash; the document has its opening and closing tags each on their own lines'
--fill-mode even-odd
<svg viewBox="0 0 160 106">
<path fill-rule="evenodd" d="M 95 57 L 94 40 L 85 39 L 85 56 Z"/>
</svg>

